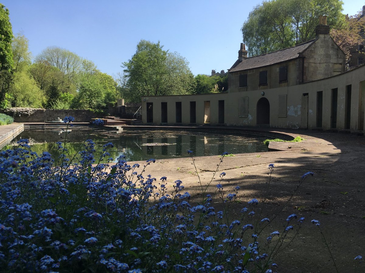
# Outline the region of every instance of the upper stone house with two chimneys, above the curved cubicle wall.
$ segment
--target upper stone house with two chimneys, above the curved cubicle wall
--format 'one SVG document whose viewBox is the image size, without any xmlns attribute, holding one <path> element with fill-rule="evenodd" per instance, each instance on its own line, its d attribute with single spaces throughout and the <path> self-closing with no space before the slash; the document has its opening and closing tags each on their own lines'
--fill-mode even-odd
<svg viewBox="0 0 365 273">
<path fill-rule="evenodd" d="M 326 16 L 320 16 L 316 39 L 294 47 L 247 58 L 241 44 L 238 60 L 229 72 L 228 90 L 244 92 L 293 86 L 345 71 L 345 53 L 329 35 Z"/>
</svg>

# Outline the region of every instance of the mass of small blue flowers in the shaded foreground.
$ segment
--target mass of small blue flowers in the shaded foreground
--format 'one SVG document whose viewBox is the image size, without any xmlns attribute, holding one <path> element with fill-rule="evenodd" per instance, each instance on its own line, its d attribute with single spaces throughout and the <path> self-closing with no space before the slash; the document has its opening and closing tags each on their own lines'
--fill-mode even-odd
<svg viewBox="0 0 365 273">
<path fill-rule="evenodd" d="M 58 161 L 32 152 L 26 140 L 18 144 L 0 152 L 5 272 L 272 272 L 274 249 L 284 248 L 304 221 L 291 214 L 283 231 L 266 238 L 261 225 L 270 219 L 256 221 L 257 199 L 247 202 L 239 219 L 226 217 L 238 186 L 225 194 L 217 185 L 223 210 L 215 211 L 211 195 L 192 205 L 180 180 L 168 187 L 167 177 L 158 184 L 145 175 L 155 159 L 142 167 L 121 156 L 110 165 L 106 150 L 112 143 L 96 157 L 95 143 L 87 140 L 73 160 L 63 153 Z M 64 143 L 57 145 L 65 151 Z M 94 164 L 95 158 L 106 163 Z"/>
</svg>

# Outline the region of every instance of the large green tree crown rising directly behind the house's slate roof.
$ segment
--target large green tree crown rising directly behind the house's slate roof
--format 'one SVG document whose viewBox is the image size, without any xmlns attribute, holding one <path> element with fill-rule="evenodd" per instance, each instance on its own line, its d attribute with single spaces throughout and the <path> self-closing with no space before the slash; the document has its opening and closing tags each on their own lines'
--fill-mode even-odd
<svg viewBox="0 0 365 273">
<path fill-rule="evenodd" d="M 249 55 L 256 56 L 295 46 L 315 38 L 319 15 L 339 28 L 345 21 L 341 0 L 272 0 L 257 5 L 242 25 Z"/>
</svg>

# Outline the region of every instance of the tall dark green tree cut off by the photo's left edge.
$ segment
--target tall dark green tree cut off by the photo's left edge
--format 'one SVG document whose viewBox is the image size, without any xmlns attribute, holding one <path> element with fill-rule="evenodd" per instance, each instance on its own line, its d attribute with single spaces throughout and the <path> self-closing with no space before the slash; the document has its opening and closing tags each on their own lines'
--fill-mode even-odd
<svg viewBox="0 0 365 273">
<path fill-rule="evenodd" d="M 12 39 L 13 31 L 9 21 L 9 10 L 0 4 L 0 101 L 4 100 L 13 78 Z"/>
</svg>

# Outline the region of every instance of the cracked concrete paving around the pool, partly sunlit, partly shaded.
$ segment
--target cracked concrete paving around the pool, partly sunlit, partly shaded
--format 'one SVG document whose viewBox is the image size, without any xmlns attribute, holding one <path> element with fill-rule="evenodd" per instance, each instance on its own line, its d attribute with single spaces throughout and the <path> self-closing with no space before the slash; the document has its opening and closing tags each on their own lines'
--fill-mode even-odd
<svg viewBox="0 0 365 273">
<path fill-rule="evenodd" d="M 22 124 L 0 126 L 0 139 L 9 138 L 11 132 Z M 131 126 L 126 126 L 128 128 Z M 135 129 L 149 126 L 134 126 Z M 208 126 L 207 126 L 208 127 Z M 161 127 L 154 127 L 159 130 Z M 164 127 L 165 128 L 165 127 Z M 167 126 L 166 126 L 167 128 Z M 181 128 L 173 126 L 175 130 Z M 241 128 L 219 127 L 220 130 Z M 150 128 L 152 129 L 152 128 Z M 205 128 L 204 128 L 205 129 Z M 208 129 L 214 129 L 210 127 Z M 252 130 L 253 128 L 249 128 Z M 271 129 L 271 130 L 268 130 Z M 278 151 L 236 154 L 225 157 L 219 166 L 207 193 L 213 195 L 212 205 L 222 209 L 219 196 L 214 195 L 219 174 L 225 172 L 222 181 L 225 194 L 240 186 L 241 190 L 230 209 L 231 217 L 239 217 L 247 201 L 261 201 L 268 182 L 268 165 L 274 164 L 273 178 L 265 202 L 263 217 L 269 217 L 285 204 L 296 189 L 301 175 L 313 171 L 301 185 L 283 212 L 270 223 L 268 232 L 281 230 L 289 214 L 306 217 L 303 228 L 287 249 L 278 255 L 277 272 L 334 272 L 326 246 L 311 219 L 321 222 L 323 233 L 340 272 L 364 272 L 363 267 L 353 261 L 357 255 L 365 255 L 365 137 L 338 132 L 321 132 L 289 129 L 255 129 L 266 132 L 301 136 L 302 142 L 271 143 L 270 148 Z M 185 151 L 183 151 L 185 152 Z M 230 153 L 230 151 L 227 151 Z M 196 157 L 195 165 L 203 185 L 211 181 L 220 158 L 218 156 Z M 138 162 L 142 165 L 145 162 Z M 141 171 L 141 167 L 138 169 Z M 183 181 L 185 191 L 192 195 L 192 202 L 201 201 L 201 189 L 191 158 L 159 159 L 147 166 L 144 176 L 151 174 L 160 182 L 166 176 L 167 193 L 173 191 L 173 182 Z M 266 235 L 266 234 L 265 234 Z M 266 238 L 266 237 L 265 237 Z"/>
</svg>

